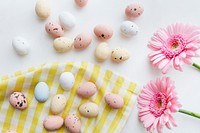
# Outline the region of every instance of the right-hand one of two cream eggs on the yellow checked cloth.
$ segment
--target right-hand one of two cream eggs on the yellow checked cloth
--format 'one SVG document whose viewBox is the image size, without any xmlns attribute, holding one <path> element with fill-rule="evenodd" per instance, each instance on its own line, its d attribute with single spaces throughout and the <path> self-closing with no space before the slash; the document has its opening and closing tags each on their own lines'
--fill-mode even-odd
<svg viewBox="0 0 200 133">
<path fill-rule="evenodd" d="M 99 107 L 93 102 L 88 102 L 79 107 L 79 112 L 87 118 L 96 117 L 99 113 Z"/>
</svg>

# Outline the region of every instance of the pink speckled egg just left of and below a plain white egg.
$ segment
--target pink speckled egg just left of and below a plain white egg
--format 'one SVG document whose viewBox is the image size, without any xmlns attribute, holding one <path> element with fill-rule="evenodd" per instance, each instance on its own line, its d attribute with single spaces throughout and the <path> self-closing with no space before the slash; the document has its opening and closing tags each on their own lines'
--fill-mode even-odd
<svg viewBox="0 0 200 133">
<path fill-rule="evenodd" d="M 53 38 L 58 38 L 64 35 L 64 30 L 60 24 L 56 22 L 48 22 L 45 25 L 46 32 L 51 35 Z"/>
</svg>

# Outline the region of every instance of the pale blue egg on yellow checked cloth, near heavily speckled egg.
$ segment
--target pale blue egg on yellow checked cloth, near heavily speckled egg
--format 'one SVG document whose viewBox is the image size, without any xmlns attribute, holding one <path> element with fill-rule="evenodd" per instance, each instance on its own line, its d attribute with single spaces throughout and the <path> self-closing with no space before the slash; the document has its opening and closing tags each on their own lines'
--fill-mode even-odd
<svg viewBox="0 0 200 133">
<path fill-rule="evenodd" d="M 35 99 L 38 102 L 45 102 L 49 97 L 49 87 L 45 82 L 39 82 L 34 90 Z"/>
</svg>

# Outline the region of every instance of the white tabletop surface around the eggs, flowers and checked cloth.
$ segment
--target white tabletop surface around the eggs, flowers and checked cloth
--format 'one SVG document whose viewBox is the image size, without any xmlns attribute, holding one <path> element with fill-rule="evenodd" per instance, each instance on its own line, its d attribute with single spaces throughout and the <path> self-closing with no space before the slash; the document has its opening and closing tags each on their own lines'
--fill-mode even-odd
<svg viewBox="0 0 200 133">
<path fill-rule="evenodd" d="M 53 49 L 53 39 L 44 30 L 46 21 L 41 21 L 35 14 L 35 0 L 2 0 L 0 4 L 0 76 L 12 74 L 16 70 L 37 66 L 55 61 L 95 61 L 93 52 L 100 43 L 93 34 L 93 27 L 99 23 L 111 24 L 114 36 L 108 41 L 111 47 L 122 46 L 128 48 L 131 58 L 124 63 L 115 64 L 107 60 L 98 63 L 103 67 L 131 79 L 138 86 L 143 86 L 150 79 L 162 76 L 161 72 L 153 68 L 147 58 L 150 50 L 147 42 L 159 28 L 174 22 L 189 22 L 200 24 L 199 0 L 140 0 L 144 6 L 144 14 L 134 22 L 140 27 L 137 36 L 127 39 L 120 35 L 120 24 L 126 18 L 124 9 L 133 0 L 89 0 L 88 5 L 77 8 L 73 0 L 51 0 L 52 13 L 49 20 L 58 21 L 62 11 L 69 11 L 77 19 L 76 27 L 65 33 L 74 38 L 82 31 L 93 36 L 92 44 L 83 51 L 71 50 L 65 54 L 56 53 Z M 18 56 L 12 48 L 12 38 L 22 36 L 31 44 L 28 56 Z M 200 59 L 195 59 L 200 63 Z M 175 80 L 176 90 L 183 108 L 200 112 L 200 72 L 191 66 L 184 66 L 184 72 L 170 70 L 166 76 Z M 144 133 L 145 129 L 137 118 L 137 108 L 134 107 L 123 133 Z M 172 130 L 164 129 L 166 133 L 197 133 L 200 132 L 200 120 L 176 113 L 178 127 Z"/>
</svg>

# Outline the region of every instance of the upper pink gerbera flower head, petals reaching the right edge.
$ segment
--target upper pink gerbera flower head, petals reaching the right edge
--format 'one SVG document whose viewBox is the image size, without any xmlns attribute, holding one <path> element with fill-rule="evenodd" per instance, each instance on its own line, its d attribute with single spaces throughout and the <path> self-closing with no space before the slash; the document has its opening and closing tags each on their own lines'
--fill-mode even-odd
<svg viewBox="0 0 200 133">
<path fill-rule="evenodd" d="M 200 46 L 200 27 L 189 24 L 172 24 L 154 33 L 148 47 L 154 52 L 149 55 L 152 64 L 165 74 L 172 66 L 182 71 L 181 65 L 192 64 Z"/>
</svg>

